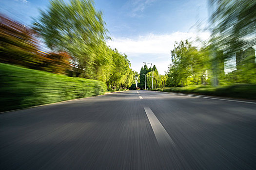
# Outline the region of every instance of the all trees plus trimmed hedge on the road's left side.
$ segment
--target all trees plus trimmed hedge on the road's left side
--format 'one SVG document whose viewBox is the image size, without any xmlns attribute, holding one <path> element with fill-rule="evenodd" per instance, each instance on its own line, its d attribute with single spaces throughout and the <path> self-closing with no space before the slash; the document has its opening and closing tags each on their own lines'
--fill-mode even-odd
<svg viewBox="0 0 256 170">
<path fill-rule="evenodd" d="M 128 89 L 138 78 L 128 56 L 106 45 L 93 0 L 52 0 L 33 26 L 0 21 L 1 111 Z"/>
</svg>

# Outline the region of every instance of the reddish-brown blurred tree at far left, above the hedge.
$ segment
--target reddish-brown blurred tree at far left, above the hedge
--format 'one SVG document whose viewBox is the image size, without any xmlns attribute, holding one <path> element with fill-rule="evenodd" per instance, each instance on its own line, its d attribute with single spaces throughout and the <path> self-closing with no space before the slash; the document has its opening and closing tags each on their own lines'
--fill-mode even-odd
<svg viewBox="0 0 256 170">
<path fill-rule="evenodd" d="M 34 31 L 0 16 L 0 62 L 38 68 L 42 62 Z"/>
</svg>

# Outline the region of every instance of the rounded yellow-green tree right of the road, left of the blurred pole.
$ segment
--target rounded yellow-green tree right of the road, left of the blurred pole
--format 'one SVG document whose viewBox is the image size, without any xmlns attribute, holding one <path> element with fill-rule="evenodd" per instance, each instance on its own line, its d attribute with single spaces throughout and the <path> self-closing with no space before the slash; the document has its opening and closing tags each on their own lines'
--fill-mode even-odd
<svg viewBox="0 0 256 170">
<path fill-rule="evenodd" d="M 203 84 L 205 74 L 210 69 L 209 55 L 205 49 L 198 51 L 188 40 L 176 42 L 172 50 L 172 64 L 167 73 L 168 86 Z"/>
</svg>

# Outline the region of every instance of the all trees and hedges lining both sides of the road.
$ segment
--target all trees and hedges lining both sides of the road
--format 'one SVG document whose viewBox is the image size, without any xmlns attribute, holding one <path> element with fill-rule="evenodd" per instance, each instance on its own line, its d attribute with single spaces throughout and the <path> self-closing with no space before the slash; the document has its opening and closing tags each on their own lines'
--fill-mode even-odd
<svg viewBox="0 0 256 170">
<path fill-rule="evenodd" d="M 165 75 L 155 65 L 138 74 L 125 53 L 107 46 L 93 0 L 52 0 L 32 26 L 0 15 L 2 110 L 145 89 L 145 79 L 146 89 L 255 99 L 256 1 L 209 2 L 210 40 L 176 42 Z"/>
</svg>

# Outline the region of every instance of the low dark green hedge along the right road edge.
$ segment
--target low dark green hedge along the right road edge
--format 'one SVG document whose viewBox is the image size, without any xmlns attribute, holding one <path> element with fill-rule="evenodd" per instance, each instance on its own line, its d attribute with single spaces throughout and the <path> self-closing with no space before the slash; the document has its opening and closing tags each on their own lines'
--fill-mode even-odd
<svg viewBox="0 0 256 170">
<path fill-rule="evenodd" d="M 186 87 L 157 88 L 150 90 L 256 100 L 256 85 L 254 84 L 237 84 L 216 87 L 210 85 L 191 85 Z"/>
</svg>

